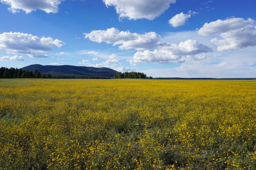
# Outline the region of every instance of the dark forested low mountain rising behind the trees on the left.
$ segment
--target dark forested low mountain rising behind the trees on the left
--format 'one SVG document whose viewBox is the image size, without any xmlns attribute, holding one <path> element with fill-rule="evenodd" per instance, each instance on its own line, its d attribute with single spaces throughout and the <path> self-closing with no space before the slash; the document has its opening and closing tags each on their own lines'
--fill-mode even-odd
<svg viewBox="0 0 256 170">
<path fill-rule="evenodd" d="M 32 71 L 38 70 L 41 74 L 65 75 L 65 76 L 104 76 L 114 77 L 116 70 L 106 67 L 95 68 L 86 66 L 73 65 L 40 65 L 33 64 L 21 68 L 22 70 Z"/>
</svg>

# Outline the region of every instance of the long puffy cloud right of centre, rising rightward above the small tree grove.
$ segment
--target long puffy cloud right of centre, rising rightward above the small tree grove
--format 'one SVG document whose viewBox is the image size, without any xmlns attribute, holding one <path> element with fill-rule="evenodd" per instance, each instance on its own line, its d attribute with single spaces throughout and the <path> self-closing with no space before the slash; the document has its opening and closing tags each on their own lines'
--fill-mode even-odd
<svg viewBox="0 0 256 170">
<path fill-rule="evenodd" d="M 146 50 L 143 52 L 136 52 L 132 60 L 127 60 L 132 65 L 138 65 L 140 63 L 169 63 L 171 61 L 177 61 L 178 63 L 185 62 L 186 58 L 192 60 L 202 60 L 205 56 L 198 55 L 201 53 L 211 52 L 212 49 L 204 44 L 198 43 L 196 40 L 187 40 L 180 42 L 180 44 L 165 43 L 159 46 L 159 49 L 154 51 Z"/>
</svg>

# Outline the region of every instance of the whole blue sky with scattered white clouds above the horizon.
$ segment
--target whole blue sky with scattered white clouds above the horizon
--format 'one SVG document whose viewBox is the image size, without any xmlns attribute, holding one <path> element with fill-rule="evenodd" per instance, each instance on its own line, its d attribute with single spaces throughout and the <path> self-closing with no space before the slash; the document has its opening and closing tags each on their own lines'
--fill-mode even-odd
<svg viewBox="0 0 256 170">
<path fill-rule="evenodd" d="M 0 67 L 256 77 L 256 1 L 1 0 Z"/>
</svg>

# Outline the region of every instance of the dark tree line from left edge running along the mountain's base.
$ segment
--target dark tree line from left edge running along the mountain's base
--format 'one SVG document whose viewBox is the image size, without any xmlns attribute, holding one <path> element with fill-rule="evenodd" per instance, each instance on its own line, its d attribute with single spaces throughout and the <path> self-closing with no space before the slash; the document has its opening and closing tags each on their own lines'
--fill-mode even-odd
<svg viewBox="0 0 256 170">
<path fill-rule="evenodd" d="M 66 79 L 110 79 L 110 77 L 103 76 L 67 76 L 67 75 L 51 75 L 51 74 L 41 74 L 38 70 L 26 71 L 18 68 L 0 68 L 0 78 L 66 78 Z"/>
</svg>

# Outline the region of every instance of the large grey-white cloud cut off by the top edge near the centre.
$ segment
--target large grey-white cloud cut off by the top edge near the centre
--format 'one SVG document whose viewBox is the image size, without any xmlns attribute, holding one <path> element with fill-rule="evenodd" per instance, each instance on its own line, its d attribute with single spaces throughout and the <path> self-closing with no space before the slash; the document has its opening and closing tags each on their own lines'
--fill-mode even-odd
<svg viewBox="0 0 256 170">
<path fill-rule="evenodd" d="M 119 18 L 153 20 L 166 11 L 176 0 L 103 0 L 106 6 L 114 6 Z"/>
</svg>

